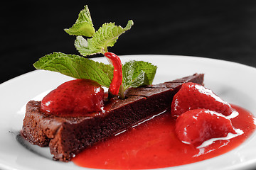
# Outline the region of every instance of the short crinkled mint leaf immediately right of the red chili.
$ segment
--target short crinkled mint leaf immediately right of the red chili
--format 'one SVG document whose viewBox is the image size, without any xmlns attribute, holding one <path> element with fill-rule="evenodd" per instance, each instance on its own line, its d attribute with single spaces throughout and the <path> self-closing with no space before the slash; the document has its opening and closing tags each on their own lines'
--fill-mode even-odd
<svg viewBox="0 0 256 170">
<path fill-rule="evenodd" d="M 156 68 L 149 62 L 134 60 L 126 62 L 122 66 L 124 91 L 129 87 L 152 84 Z"/>
</svg>

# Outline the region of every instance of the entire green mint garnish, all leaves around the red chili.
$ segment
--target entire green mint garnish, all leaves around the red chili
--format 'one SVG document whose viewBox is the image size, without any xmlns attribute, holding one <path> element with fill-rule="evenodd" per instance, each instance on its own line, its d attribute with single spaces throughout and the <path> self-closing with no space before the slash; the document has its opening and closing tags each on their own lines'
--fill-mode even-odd
<svg viewBox="0 0 256 170">
<path fill-rule="evenodd" d="M 107 52 L 107 47 L 112 47 L 119 36 L 131 29 L 133 24 L 133 21 L 129 20 L 127 26 L 122 28 L 114 23 L 104 23 L 102 27 L 95 31 L 89 8 L 85 6 L 80 11 L 75 24 L 71 28 L 65 29 L 65 32 L 69 35 L 77 36 L 75 48 L 84 57 L 53 52 L 41 57 L 33 66 L 36 69 L 59 72 L 75 79 L 91 79 L 101 86 L 109 88 L 113 78 L 114 68 L 112 64 L 95 62 L 85 57 Z M 156 66 L 149 62 L 130 61 L 122 65 L 122 72 L 123 79 L 119 94 L 121 98 L 124 98 L 124 91 L 129 87 L 152 84 L 156 74 Z"/>
</svg>

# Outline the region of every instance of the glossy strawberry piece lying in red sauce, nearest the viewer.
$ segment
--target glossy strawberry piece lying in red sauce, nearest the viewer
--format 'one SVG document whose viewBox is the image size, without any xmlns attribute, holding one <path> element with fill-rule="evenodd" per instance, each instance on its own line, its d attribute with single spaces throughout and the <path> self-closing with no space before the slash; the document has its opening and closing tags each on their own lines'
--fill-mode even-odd
<svg viewBox="0 0 256 170">
<path fill-rule="evenodd" d="M 211 138 L 226 137 L 235 130 L 224 115 L 208 109 L 195 109 L 177 118 L 175 132 L 182 142 L 201 145 Z"/>
</svg>

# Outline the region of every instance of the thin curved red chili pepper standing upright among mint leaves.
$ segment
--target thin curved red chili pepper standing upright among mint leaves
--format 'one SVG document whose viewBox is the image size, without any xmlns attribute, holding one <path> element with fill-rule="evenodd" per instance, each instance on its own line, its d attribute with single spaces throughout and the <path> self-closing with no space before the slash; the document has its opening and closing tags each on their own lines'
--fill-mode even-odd
<svg viewBox="0 0 256 170">
<path fill-rule="evenodd" d="M 114 67 L 113 79 L 110 83 L 109 91 L 111 94 L 117 95 L 122 84 L 122 62 L 120 58 L 112 52 L 105 52 L 104 55 L 111 60 Z"/>
</svg>

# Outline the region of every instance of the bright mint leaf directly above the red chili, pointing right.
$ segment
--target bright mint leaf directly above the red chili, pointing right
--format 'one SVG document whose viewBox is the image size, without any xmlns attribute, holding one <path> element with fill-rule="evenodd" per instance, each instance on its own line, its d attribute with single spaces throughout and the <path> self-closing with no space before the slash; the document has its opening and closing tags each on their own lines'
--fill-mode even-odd
<svg viewBox="0 0 256 170">
<path fill-rule="evenodd" d="M 81 55 L 94 55 L 97 53 L 104 54 L 107 47 L 112 47 L 122 33 L 133 26 L 133 21 L 129 20 L 127 26 L 115 26 L 114 23 L 105 23 L 95 32 L 92 38 L 82 38 L 78 36 L 75 40 L 75 47 Z"/>
</svg>

